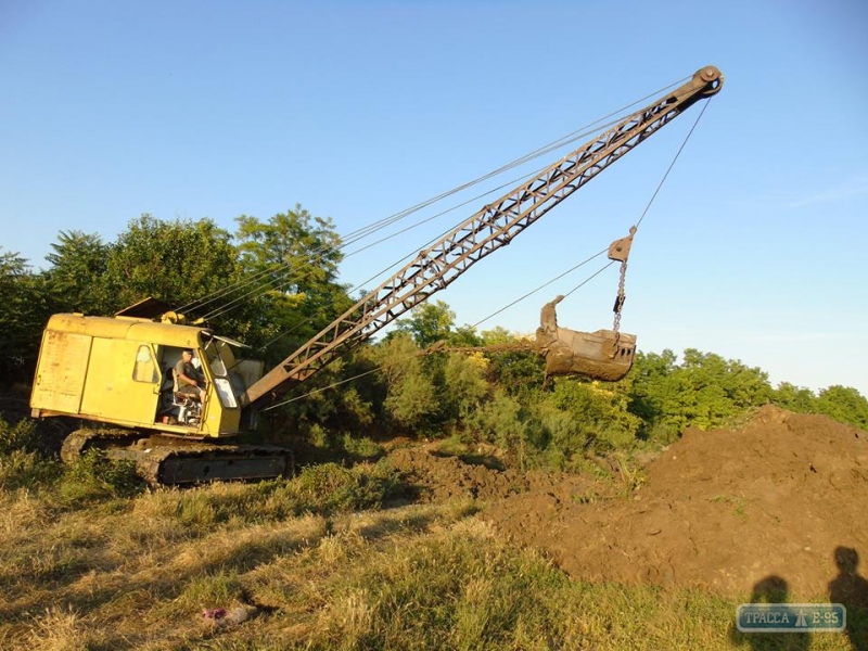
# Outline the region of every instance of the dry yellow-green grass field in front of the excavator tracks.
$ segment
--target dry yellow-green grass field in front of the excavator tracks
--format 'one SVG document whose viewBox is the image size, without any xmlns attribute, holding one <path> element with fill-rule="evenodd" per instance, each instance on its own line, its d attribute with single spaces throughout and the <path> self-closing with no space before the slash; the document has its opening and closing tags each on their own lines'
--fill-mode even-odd
<svg viewBox="0 0 868 651">
<path fill-rule="evenodd" d="M 475 501 L 399 506 L 382 462 L 129 495 L 87 476 L 0 490 L 2 649 L 868 648 L 864 613 L 866 646 L 742 636 L 748 596 L 572 580 Z"/>
</svg>

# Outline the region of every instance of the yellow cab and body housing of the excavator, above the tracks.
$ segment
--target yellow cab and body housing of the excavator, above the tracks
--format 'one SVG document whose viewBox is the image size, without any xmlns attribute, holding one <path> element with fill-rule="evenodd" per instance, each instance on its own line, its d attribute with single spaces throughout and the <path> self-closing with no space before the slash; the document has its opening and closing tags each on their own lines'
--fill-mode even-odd
<svg viewBox="0 0 868 651">
<path fill-rule="evenodd" d="M 206 397 L 195 419 L 179 421 L 173 373 L 184 348 L 200 361 Z M 42 335 L 30 408 L 34 417 L 229 437 L 240 430 L 240 396 L 261 371 L 261 362 L 235 359 L 228 340 L 202 328 L 54 315 Z"/>
</svg>

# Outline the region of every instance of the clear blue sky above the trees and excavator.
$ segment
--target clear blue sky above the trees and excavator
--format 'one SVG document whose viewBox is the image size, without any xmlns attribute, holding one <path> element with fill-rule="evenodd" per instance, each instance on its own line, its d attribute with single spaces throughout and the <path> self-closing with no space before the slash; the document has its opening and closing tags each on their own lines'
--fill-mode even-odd
<svg viewBox="0 0 868 651">
<path fill-rule="evenodd" d="M 233 231 L 296 203 L 352 232 L 712 64 L 725 87 L 637 234 L 622 328 L 868 396 L 866 30 L 857 0 L 0 0 L 0 246 L 38 269 L 61 230 L 114 241 L 151 213 Z M 476 323 L 626 234 L 700 107 L 437 297 Z M 481 329 L 533 331 L 590 270 Z M 561 324 L 611 327 L 616 283 Z"/>
</svg>

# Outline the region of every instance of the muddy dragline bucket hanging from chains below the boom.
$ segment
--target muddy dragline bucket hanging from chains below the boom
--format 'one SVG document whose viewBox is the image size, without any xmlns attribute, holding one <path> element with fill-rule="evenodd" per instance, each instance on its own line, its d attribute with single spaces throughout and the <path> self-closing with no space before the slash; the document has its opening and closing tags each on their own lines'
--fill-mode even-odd
<svg viewBox="0 0 868 651">
<path fill-rule="evenodd" d="M 636 337 L 612 330 L 578 332 L 558 329 L 546 347 L 546 375 L 584 375 L 617 382 L 633 367 Z"/>
</svg>

